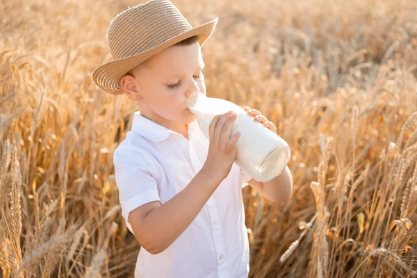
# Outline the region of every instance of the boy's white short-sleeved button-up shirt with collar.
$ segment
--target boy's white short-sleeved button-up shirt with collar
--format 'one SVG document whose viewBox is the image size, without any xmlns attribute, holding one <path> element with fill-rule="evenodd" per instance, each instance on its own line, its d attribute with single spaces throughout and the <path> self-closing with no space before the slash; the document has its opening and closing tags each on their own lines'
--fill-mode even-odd
<svg viewBox="0 0 417 278">
<path fill-rule="evenodd" d="M 202 168 L 208 139 L 197 121 L 188 124 L 188 140 L 152 120 L 134 114 L 132 129 L 115 149 L 113 163 L 122 215 L 153 201 L 167 202 Z M 249 272 L 249 243 L 242 187 L 252 179 L 235 163 L 195 220 L 166 250 L 141 248 L 135 278 L 240 278 Z"/>
</svg>

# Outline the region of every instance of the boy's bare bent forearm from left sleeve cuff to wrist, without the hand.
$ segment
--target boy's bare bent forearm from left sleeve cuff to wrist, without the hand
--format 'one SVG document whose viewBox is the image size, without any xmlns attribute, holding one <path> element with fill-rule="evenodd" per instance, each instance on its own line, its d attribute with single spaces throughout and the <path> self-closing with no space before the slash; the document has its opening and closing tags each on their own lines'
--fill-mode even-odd
<svg viewBox="0 0 417 278">
<path fill-rule="evenodd" d="M 129 223 L 138 243 L 151 254 L 163 252 L 193 222 L 220 182 L 200 170 L 188 186 L 164 204 L 150 202 L 131 211 Z"/>
</svg>

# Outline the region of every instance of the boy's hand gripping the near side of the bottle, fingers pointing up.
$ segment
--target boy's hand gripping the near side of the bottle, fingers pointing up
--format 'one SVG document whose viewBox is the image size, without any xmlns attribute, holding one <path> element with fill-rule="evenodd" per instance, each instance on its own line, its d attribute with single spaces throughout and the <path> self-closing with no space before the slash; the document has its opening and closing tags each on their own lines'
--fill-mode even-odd
<svg viewBox="0 0 417 278">
<path fill-rule="evenodd" d="M 236 159 L 236 143 L 240 133 L 231 134 L 236 117 L 236 113 L 229 111 L 215 116 L 209 126 L 210 145 L 202 169 L 208 177 L 219 183 L 227 177 Z"/>
</svg>

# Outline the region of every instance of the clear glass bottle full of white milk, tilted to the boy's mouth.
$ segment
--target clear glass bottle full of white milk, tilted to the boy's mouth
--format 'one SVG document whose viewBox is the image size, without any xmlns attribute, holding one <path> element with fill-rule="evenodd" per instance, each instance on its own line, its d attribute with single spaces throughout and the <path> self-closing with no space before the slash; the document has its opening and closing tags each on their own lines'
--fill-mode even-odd
<svg viewBox="0 0 417 278">
<path fill-rule="evenodd" d="M 208 140 L 208 126 L 213 117 L 228 111 L 236 113 L 238 117 L 231 133 L 240 131 L 235 163 L 256 181 L 270 181 L 286 167 L 291 154 L 287 142 L 260 122 L 255 122 L 240 106 L 225 99 L 206 97 L 202 92 L 191 95 L 186 105 Z"/>
</svg>

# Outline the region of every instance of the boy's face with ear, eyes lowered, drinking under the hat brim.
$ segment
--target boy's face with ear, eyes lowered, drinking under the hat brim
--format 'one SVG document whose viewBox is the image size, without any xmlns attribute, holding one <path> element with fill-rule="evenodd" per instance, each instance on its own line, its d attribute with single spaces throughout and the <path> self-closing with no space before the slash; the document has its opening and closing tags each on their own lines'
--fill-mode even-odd
<svg viewBox="0 0 417 278">
<path fill-rule="evenodd" d="M 172 130 L 195 120 L 186 101 L 195 92 L 206 94 L 202 69 L 204 61 L 198 42 L 172 46 L 152 56 L 125 75 L 120 84 L 140 114 Z"/>
</svg>

